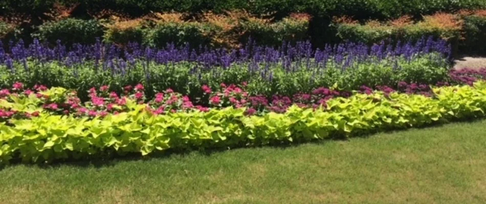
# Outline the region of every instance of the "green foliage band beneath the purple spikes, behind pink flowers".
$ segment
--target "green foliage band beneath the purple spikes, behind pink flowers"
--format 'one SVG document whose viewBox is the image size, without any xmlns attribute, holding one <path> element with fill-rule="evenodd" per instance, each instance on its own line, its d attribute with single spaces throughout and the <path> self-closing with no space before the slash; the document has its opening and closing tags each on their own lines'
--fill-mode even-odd
<svg viewBox="0 0 486 204">
<path fill-rule="evenodd" d="M 36 84 L 48 87 L 64 87 L 76 90 L 83 100 L 85 93 L 92 87 L 108 85 L 122 87 L 125 85 L 144 84 L 147 97 L 153 97 L 156 91 L 172 88 L 174 91 L 188 95 L 190 98 L 203 96 L 202 85 L 219 87 L 220 83 L 241 84 L 248 82 L 248 92 L 252 95 L 274 94 L 292 96 L 296 93 L 308 93 L 319 87 L 333 87 L 340 90 L 358 90 L 361 86 L 377 85 L 396 87 L 399 82 L 436 84 L 448 81 L 448 62 L 437 54 L 424 54 L 411 61 L 405 58 L 356 62 L 343 70 L 341 64 L 333 59 L 326 67 L 316 67 L 312 59 L 305 62 L 294 62 L 284 68 L 281 63 L 269 65 L 262 63 L 254 66 L 249 63 L 235 63 L 230 67 L 202 67 L 196 63 L 179 62 L 156 64 L 139 60 L 133 67 L 122 72 L 120 69 L 96 67 L 93 61 L 84 64 L 64 65 L 62 62 L 29 61 L 15 63 L 13 70 L 0 66 L 0 87 L 9 88 L 15 82 L 24 83 L 27 87 Z M 116 63 L 116 62 L 115 62 Z M 311 68 L 308 68 L 307 65 Z M 148 68 L 147 68 L 148 67 Z M 266 68 L 267 67 L 267 68 Z M 116 90 L 121 93 L 122 90 Z"/>
</svg>

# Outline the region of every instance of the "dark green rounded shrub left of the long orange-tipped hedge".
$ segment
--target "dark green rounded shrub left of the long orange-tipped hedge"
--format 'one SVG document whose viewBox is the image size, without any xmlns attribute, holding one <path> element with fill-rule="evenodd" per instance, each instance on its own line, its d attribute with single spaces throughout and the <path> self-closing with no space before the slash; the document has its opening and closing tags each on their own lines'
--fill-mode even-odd
<svg viewBox="0 0 486 204">
<path fill-rule="evenodd" d="M 71 45 L 94 43 L 96 38 L 102 35 L 103 28 L 97 20 L 67 18 L 40 25 L 39 30 L 32 37 L 50 43 L 61 40 L 64 44 Z"/>
</svg>

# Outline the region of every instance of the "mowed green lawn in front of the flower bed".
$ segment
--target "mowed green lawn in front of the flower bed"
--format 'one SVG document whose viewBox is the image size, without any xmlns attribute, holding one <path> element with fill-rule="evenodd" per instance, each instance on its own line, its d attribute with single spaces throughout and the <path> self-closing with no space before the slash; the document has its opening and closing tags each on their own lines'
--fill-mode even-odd
<svg viewBox="0 0 486 204">
<path fill-rule="evenodd" d="M 486 203 L 486 120 L 105 165 L 12 165 L 0 203 Z"/>
</svg>

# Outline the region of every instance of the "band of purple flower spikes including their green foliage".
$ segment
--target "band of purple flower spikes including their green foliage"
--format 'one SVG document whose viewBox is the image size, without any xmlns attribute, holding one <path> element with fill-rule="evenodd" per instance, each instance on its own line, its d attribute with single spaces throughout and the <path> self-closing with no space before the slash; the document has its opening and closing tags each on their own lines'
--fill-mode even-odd
<svg viewBox="0 0 486 204">
<path fill-rule="evenodd" d="M 168 45 L 151 49 L 131 44 L 124 50 L 97 43 L 76 45 L 71 51 L 58 44 L 49 48 L 36 41 L 28 48 L 22 43 L 0 50 L 0 86 L 14 82 L 32 87 L 75 89 L 81 100 L 92 87 L 108 85 L 146 86 L 148 99 L 158 91 L 174 91 L 196 99 L 200 87 L 220 83 L 248 83 L 253 95 L 293 96 L 319 87 L 357 90 L 362 85 L 397 88 L 407 83 L 436 84 L 448 81 L 449 45 L 424 38 L 397 46 L 385 43 L 371 47 L 346 43 L 313 50 L 310 43 L 282 45 L 279 49 L 249 44 L 244 49 L 191 50 Z M 113 90 L 120 94 L 123 90 Z M 197 103 L 197 101 L 193 101 Z"/>
</svg>

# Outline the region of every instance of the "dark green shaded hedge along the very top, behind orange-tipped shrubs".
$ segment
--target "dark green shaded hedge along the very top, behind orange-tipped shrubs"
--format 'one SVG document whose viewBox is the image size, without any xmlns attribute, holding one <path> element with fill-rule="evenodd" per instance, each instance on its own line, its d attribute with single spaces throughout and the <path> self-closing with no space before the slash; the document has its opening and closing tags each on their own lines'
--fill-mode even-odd
<svg viewBox="0 0 486 204">
<path fill-rule="evenodd" d="M 0 14 L 29 13 L 42 16 L 55 4 L 78 5 L 81 13 L 108 9 L 133 17 L 150 12 L 220 13 L 243 9 L 254 14 L 274 13 L 277 17 L 307 12 L 315 16 L 350 15 L 384 19 L 486 8 L 486 1 L 483 0 L 4 0 L 0 2 Z"/>
</svg>

